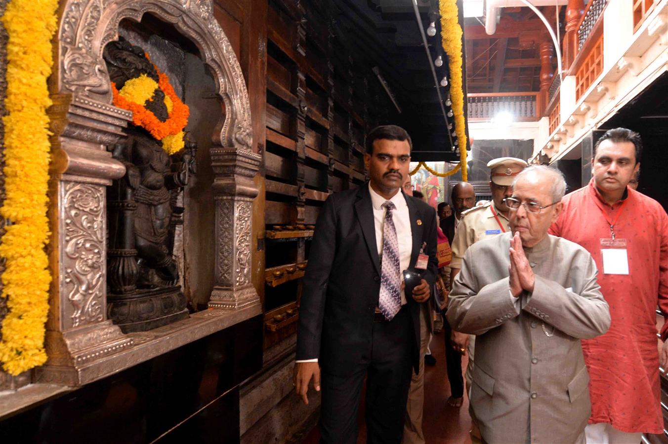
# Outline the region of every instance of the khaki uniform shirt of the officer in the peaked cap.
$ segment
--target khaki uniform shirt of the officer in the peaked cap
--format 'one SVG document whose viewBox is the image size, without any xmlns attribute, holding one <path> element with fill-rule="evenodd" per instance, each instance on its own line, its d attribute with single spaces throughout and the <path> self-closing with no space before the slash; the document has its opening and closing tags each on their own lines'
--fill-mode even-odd
<svg viewBox="0 0 668 444">
<path fill-rule="evenodd" d="M 498 217 L 502 226 L 494 218 L 492 213 L 493 202 L 488 205 L 472 208 L 462 213 L 462 221 L 460 221 L 455 230 L 455 238 L 452 241 L 452 261 L 450 261 L 450 268 L 462 268 L 462 257 L 468 250 L 468 247 L 487 237 L 496 236 L 510 231 L 508 225 L 508 218 L 496 209 L 494 213 Z"/>
</svg>

